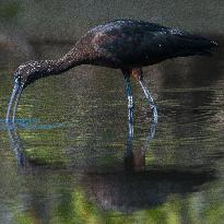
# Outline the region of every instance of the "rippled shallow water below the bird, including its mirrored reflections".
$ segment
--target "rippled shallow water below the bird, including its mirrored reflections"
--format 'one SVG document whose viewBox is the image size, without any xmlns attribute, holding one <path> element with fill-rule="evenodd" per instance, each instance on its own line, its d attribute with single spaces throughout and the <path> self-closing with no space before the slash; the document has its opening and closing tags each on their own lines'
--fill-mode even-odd
<svg viewBox="0 0 224 224">
<path fill-rule="evenodd" d="M 158 125 L 151 139 L 152 113 L 133 81 L 132 142 L 120 71 L 82 66 L 39 80 L 8 127 L 12 68 L 2 67 L 0 223 L 222 223 L 221 56 L 145 68 Z"/>
</svg>

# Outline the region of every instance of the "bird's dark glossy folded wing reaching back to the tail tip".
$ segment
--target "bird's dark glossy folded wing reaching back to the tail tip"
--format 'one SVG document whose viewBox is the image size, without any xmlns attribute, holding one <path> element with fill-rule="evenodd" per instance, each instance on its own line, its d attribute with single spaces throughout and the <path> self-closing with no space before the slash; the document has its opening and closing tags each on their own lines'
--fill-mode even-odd
<svg viewBox="0 0 224 224">
<path fill-rule="evenodd" d="M 98 26 L 93 45 L 102 55 L 122 64 L 150 64 L 167 58 L 201 55 L 212 47 L 203 37 L 141 21 Z"/>
</svg>

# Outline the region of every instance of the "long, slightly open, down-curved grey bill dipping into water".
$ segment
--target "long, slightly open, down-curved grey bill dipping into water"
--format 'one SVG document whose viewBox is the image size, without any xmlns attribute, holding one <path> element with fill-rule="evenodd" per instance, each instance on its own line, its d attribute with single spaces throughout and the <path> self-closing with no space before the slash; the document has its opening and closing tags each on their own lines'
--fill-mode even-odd
<svg viewBox="0 0 224 224">
<path fill-rule="evenodd" d="M 10 98 L 10 103 L 9 103 L 9 107 L 8 107 L 8 111 L 7 111 L 7 122 L 8 123 L 9 122 L 14 123 L 14 121 L 15 121 L 17 104 L 19 104 L 21 94 L 23 92 L 23 86 L 24 86 L 23 83 L 17 82 L 17 80 L 15 80 L 12 96 Z M 13 107 L 13 105 L 14 105 L 14 107 Z M 10 115 L 11 115 L 12 110 L 13 110 L 12 119 L 10 119 Z"/>
</svg>

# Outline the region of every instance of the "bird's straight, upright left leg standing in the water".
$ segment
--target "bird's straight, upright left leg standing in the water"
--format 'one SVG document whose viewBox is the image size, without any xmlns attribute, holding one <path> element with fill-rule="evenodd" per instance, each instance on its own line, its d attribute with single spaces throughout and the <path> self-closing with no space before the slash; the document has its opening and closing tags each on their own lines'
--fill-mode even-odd
<svg viewBox="0 0 224 224">
<path fill-rule="evenodd" d="M 133 138 L 133 96 L 130 83 L 130 75 L 125 75 L 126 79 L 126 94 L 128 97 L 128 120 L 129 120 L 129 138 Z"/>
</svg>

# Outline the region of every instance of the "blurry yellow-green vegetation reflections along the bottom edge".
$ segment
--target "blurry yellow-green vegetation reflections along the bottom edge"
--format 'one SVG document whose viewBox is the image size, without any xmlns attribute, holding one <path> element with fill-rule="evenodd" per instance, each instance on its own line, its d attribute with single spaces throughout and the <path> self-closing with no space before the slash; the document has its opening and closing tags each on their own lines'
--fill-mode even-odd
<svg viewBox="0 0 224 224">
<path fill-rule="evenodd" d="M 217 200 L 214 207 L 207 208 L 201 199 L 205 193 L 196 194 L 188 199 L 172 194 L 167 202 L 151 210 L 122 213 L 119 211 L 103 211 L 94 202 L 90 201 L 81 188 L 68 193 L 56 204 L 49 223 L 54 224 L 199 224 L 222 223 L 224 219 L 224 207 Z M 211 201 L 214 199 L 211 199 Z M 19 224 L 40 223 L 34 211 L 16 215 Z"/>
</svg>

